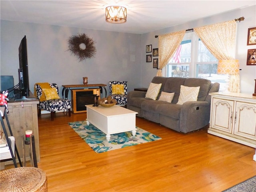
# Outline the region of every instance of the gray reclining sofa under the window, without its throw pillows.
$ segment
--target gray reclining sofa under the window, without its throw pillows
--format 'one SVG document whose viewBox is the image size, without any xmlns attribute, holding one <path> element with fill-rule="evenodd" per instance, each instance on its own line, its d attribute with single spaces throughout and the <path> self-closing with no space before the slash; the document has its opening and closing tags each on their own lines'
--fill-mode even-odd
<svg viewBox="0 0 256 192">
<path fill-rule="evenodd" d="M 127 108 L 138 112 L 137 116 L 160 123 L 163 126 L 178 132 L 191 132 L 208 125 L 210 120 L 209 93 L 218 92 L 219 83 L 201 78 L 178 78 L 178 77 L 154 77 L 154 84 L 162 83 L 156 100 L 145 98 L 146 92 L 130 91 L 127 94 Z M 184 104 L 176 104 L 180 96 L 180 86 L 200 86 L 197 101 L 189 101 Z M 173 93 L 171 103 L 160 101 L 161 92 Z"/>
</svg>

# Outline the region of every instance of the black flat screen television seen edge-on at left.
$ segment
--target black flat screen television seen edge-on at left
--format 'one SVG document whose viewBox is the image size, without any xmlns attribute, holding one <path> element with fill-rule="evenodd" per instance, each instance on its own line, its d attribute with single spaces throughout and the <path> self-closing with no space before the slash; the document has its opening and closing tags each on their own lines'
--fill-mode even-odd
<svg viewBox="0 0 256 192">
<path fill-rule="evenodd" d="M 26 35 L 22 38 L 19 46 L 19 90 L 22 98 L 15 100 L 34 99 L 29 97 L 29 82 L 28 82 L 28 56 L 27 56 L 27 40 Z"/>
</svg>

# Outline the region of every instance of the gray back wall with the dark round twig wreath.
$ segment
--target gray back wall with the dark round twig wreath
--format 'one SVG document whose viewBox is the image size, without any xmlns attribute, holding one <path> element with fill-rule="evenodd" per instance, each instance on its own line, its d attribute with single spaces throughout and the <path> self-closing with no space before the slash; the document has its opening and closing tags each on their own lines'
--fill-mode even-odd
<svg viewBox="0 0 256 192">
<path fill-rule="evenodd" d="M 85 33 L 96 42 L 94 58 L 79 62 L 68 51 L 68 38 L 78 33 Z M 18 84 L 18 47 L 24 35 L 32 92 L 37 82 L 55 82 L 62 90 L 62 85 L 82 84 L 84 76 L 88 77 L 88 84 L 127 80 L 128 91 L 140 87 L 139 34 L 1 20 L 0 73 L 14 76 L 14 84 Z"/>
</svg>

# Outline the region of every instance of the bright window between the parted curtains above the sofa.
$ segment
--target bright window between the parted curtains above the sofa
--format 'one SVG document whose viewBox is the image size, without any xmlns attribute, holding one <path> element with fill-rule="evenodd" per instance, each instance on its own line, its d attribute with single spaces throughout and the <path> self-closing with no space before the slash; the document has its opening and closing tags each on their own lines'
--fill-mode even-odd
<svg viewBox="0 0 256 192">
<path fill-rule="evenodd" d="M 165 67 L 167 77 L 205 78 L 225 88 L 226 75 L 217 74 L 218 60 L 195 32 L 186 33 L 180 46 Z M 164 73 L 163 73 L 164 74 Z"/>
</svg>

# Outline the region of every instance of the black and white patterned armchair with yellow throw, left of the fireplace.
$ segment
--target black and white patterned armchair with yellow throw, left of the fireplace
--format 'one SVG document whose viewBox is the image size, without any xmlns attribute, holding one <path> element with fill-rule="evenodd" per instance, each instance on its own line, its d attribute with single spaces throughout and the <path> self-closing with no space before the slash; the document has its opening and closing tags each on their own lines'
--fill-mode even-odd
<svg viewBox="0 0 256 192">
<path fill-rule="evenodd" d="M 58 85 L 55 83 L 50 84 L 51 88 L 55 88 L 56 90 L 56 96 L 53 97 L 53 99 L 48 99 L 48 100 L 42 100 L 40 101 L 40 98 L 42 97 L 43 90 L 40 86 L 40 83 L 35 84 L 35 91 L 36 91 L 36 97 L 39 100 L 39 105 L 38 105 L 38 116 L 41 115 L 41 110 L 46 110 L 51 112 L 51 120 L 53 121 L 54 119 L 54 114 L 56 111 L 61 111 L 63 110 L 64 112 L 68 112 L 68 116 L 71 116 L 71 101 L 67 99 L 61 99 L 58 94 L 59 94 L 59 89 Z"/>
</svg>

